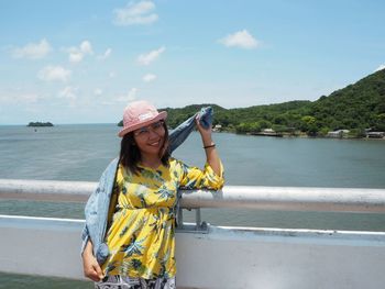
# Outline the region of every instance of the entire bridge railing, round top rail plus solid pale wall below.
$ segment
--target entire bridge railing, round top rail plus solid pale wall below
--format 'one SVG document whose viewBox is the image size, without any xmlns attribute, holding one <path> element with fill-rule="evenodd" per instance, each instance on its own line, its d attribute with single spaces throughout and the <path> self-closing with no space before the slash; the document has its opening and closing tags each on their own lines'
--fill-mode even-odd
<svg viewBox="0 0 385 289">
<path fill-rule="evenodd" d="M 95 182 L 0 180 L 1 199 L 87 200 Z M 187 208 L 385 212 L 384 189 L 224 187 Z M 0 215 L 0 271 L 82 279 L 82 220 Z M 385 233 L 209 226 L 176 233 L 178 288 L 383 288 Z"/>
</svg>

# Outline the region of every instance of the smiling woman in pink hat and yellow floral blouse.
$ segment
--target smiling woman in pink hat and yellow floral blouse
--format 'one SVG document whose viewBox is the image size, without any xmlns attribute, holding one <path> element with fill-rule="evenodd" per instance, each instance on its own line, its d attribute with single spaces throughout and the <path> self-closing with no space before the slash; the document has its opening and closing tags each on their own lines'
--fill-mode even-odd
<svg viewBox="0 0 385 289">
<path fill-rule="evenodd" d="M 177 190 L 223 186 L 211 126 L 204 129 L 195 120 L 207 156 L 200 170 L 170 157 L 166 116 L 146 101 L 132 102 L 124 111 L 119 163 L 103 173 L 86 205 L 82 262 L 96 288 L 175 288 Z M 108 212 L 98 209 L 100 203 Z M 101 236 L 92 237 L 91 231 Z"/>
</svg>

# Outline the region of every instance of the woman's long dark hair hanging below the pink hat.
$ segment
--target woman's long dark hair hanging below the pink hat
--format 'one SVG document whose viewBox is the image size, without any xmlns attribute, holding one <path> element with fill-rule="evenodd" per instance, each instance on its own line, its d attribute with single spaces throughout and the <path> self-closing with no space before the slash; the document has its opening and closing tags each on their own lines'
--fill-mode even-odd
<svg viewBox="0 0 385 289">
<path fill-rule="evenodd" d="M 168 130 L 167 124 L 163 122 L 165 131 L 163 146 L 160 149 L 160 158 L 163 165 L 168 164 L 169 149 L 168 149 Z M 141 151 L 139 149 L 134 133 L 130 132 L 125 134 L 120 143 L 120 164 L 129 169 L 132 174 L 139 175 L 140 170 L 138 163 L 142 160 Z"/>
</svg>

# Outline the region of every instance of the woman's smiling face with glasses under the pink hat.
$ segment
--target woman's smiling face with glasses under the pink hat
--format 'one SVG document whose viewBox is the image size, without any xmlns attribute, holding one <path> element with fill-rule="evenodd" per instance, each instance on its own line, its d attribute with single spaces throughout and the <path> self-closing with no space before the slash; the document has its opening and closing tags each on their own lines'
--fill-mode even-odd
<svg viewBox="0 0 385 289">
<path fill-rule="evenodd" d="M 133 132 L 135 143 L 141 154 L 157 155 L 165 142 L 164 121 L 154 122 Z"/>
</svg>

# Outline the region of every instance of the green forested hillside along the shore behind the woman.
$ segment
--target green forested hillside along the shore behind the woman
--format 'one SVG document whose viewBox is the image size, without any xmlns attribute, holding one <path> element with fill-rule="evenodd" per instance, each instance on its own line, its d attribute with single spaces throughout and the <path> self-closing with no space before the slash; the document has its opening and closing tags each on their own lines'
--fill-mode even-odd
<svg viewBox="0 0 385 289">
<path fill-rule="evenodd" d="M 289 101 L 242 109 L 195 104 L 161 110 L 168 112 L 167 124 L 175 127 L 207 105 L 215 110 L 213 125 L 220 124 L 222 131 L 258 133 L 273 129 L 290 135 L 324 136 L 329 131 L 349 130 L 348 137 L 362 137 L 366 129 L 385 131 L 385 69 L 314 102 Z"/>
</svg>

